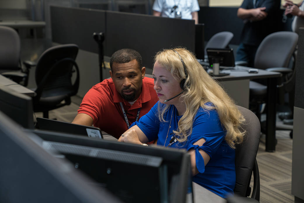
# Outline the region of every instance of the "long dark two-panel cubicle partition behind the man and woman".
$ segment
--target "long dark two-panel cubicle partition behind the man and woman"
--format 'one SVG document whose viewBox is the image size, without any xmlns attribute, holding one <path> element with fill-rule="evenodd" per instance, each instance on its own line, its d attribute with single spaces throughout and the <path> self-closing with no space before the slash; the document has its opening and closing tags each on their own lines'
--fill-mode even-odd
<svg viewBox="0 0 304 203">
<path fill-rule="evenodd" d="M 75 43 L 80 49 L 98 53 L 94 32 L 104 32 L 104 55 L 132 48 L 153 67 L 155 53 L 163 48 L 184 46 L 195 51 L 195 24 L 191 20 L 95 9 L 50 7 L 52 40 Z"/>
</svg>

